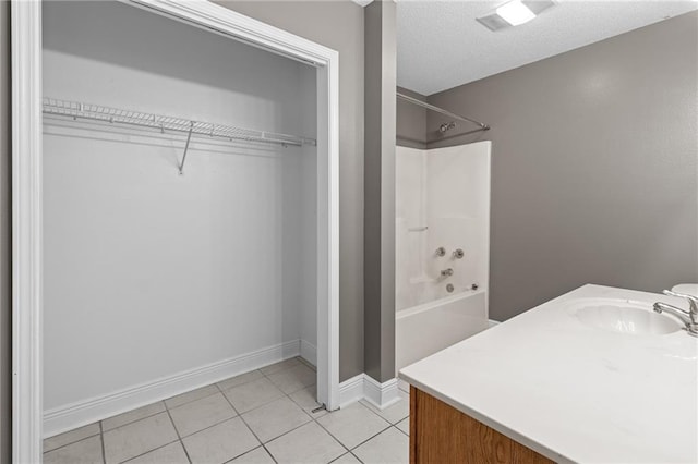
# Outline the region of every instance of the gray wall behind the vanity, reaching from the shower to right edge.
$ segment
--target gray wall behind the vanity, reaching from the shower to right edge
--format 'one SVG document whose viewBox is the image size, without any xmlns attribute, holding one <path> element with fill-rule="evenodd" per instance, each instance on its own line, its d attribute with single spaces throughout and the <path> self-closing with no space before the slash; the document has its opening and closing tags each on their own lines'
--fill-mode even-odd
<svg viewBox="0 0 698 464">
<path fill-rule="evenodd" d="M 493 141 L 492 318 L 698 282 L 697 57 L 694 12 L 429 97 L 492 125 L 430 144 Z"/>
</svg>

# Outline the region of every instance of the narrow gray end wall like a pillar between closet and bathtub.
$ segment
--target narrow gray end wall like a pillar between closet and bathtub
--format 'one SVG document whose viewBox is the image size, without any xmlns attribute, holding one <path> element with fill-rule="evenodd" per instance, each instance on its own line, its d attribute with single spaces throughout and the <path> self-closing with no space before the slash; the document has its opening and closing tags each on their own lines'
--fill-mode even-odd
<svg viewBox="0 0 698 464">
<path fill-rule="evenodd" d="M 365 20 L 364 370 L 395 377 L 396 9 L 374 1 Z"/>
</svg>

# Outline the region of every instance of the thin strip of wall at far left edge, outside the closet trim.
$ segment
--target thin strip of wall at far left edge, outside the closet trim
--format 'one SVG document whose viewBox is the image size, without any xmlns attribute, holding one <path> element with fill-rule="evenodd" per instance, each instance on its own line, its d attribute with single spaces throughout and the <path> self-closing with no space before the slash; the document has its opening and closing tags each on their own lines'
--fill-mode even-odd
<svg viewBox="0 0 698 464">
<path fill-rule="evenodd" d="M 0 462 L 11 453 L 10 3 L 0 0 Z"/>
</svg>

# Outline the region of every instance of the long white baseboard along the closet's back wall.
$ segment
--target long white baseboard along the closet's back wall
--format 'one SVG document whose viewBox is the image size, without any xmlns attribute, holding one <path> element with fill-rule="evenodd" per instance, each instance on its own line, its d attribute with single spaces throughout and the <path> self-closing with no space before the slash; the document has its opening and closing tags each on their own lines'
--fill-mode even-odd
<svg viewBox="0 0 698 464">
<path fill-rule="evenodd" d="M 306 344 L 312 346 L 310 343 Z M 141 383 L 101 396 L 46 411 L 44 413 L 44 438 L 258 369 L 289 357 L 302 355 L 301 351 L 302 342 L 293 340 L 173 376 L 163 377 L 152 382 Z M 316 350 L 313 353 L 315 353 L 314 356 L 316 357 Z"/>
</svg>

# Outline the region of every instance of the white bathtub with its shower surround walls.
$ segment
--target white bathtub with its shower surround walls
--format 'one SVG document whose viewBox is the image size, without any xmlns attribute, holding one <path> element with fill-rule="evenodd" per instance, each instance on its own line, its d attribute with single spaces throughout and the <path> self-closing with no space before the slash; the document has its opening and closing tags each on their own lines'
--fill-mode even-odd
<svg viewBox="0 0 698 464">
<path fill-rule="evenodd" d="M 397 147 L 397 369 L 488 328 L 491 149 Z"/>
</svg>

